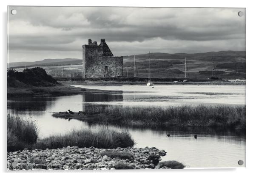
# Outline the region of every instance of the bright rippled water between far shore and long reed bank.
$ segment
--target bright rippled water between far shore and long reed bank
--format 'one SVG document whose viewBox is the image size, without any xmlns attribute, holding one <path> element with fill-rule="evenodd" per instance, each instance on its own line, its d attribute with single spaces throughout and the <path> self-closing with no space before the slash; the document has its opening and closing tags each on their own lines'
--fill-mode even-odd
<svg viewBox="0 0 256 176">
<path fill-rule="evenodd" d="M 245 104 L 245 85 L 74 85 L 105 91 L 123 91 L 123 104 L 131 106 L 180 104 Z M 110 102 L 108 104 L 120 104 Z"/>
</svg>

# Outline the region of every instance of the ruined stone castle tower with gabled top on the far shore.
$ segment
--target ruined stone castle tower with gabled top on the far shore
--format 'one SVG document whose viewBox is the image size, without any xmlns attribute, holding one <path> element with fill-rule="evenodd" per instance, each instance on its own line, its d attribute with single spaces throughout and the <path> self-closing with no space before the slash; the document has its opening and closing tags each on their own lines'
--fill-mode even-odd
<svg viewBox="0 0 256 176">
<path fill-rule="evenodd" d="M 82 45 L 83 77 L 122 77 L 123 57 L 114 57 L 105 39 Z"/>
</svg>

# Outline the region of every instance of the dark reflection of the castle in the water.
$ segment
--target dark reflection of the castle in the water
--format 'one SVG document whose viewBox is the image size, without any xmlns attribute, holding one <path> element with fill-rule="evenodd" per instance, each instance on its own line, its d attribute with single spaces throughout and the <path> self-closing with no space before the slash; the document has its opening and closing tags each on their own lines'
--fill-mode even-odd
<svg viewBox="0 0 256 176">
<path fill-rule="evenodd" d="M 122 91 L 117 91 L 115 94 L 110 93 L 91 93 L 82 96 L 82 102 L 122 102 Z M 105 110 L 107 104 L 83 104 L 82 111 L 87 114 L 100 113 Z"/>
</svg>

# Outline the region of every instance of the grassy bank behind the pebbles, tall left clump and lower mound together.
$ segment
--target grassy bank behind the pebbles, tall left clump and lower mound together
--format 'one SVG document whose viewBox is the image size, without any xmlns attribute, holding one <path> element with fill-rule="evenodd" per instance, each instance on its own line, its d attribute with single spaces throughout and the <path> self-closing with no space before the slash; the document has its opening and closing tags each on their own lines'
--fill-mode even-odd
<svg viewBox="0 0 256 176">
<path fill-rule="evenodd" d="M 72 130 L 66 135 L 53 135 L 38 140 L 37 124 L 31 119 L 7 115 L 7 151 L 31 149 L 56 149 L 66 146 L 117 148 L 134 145 L 128 131 L 102 128 L 98 132 L 90 129 Z"/>
</svg>

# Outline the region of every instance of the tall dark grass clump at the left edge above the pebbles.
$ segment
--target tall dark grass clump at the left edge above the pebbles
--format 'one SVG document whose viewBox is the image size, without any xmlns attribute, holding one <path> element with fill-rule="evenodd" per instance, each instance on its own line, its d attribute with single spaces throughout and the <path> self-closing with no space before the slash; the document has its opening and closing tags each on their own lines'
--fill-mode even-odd
<svg viewBox="0 0 256 176">
<path fill-rule="evenodd" d="M 7 114 L 7 151 L 20 150 L 37 142 L 35 121 Z"/>
</svg>

